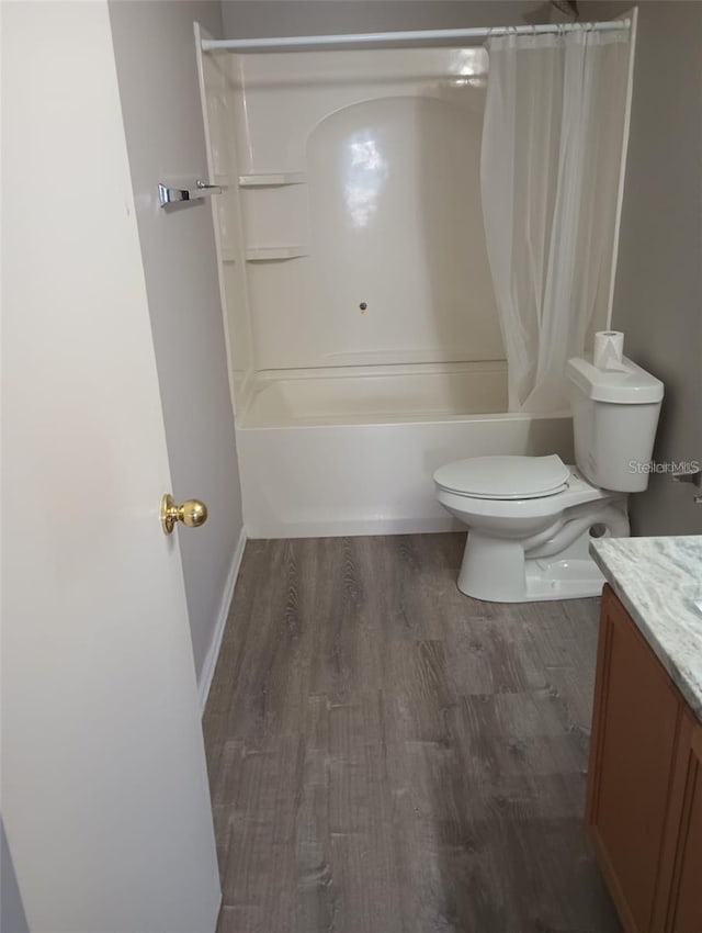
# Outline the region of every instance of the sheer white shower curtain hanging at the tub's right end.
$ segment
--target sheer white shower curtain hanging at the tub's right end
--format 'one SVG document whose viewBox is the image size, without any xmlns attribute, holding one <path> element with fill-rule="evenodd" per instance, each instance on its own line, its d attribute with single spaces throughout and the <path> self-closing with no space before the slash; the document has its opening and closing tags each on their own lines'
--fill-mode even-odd
<svg viewBox="0 0 702 933">
<path fill-rule="evenodd" d="M 488 40 L 480 186 L 509 408 L 567 408 L 610 303 L 629 31 Z"/>
</svg>

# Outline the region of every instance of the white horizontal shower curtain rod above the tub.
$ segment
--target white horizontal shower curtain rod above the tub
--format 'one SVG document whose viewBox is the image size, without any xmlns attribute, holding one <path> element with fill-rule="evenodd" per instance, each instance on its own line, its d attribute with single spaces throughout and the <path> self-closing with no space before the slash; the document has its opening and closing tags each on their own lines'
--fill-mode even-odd
<svg viewBox="0 0 702 933">
<path fill-rule="evenodd" d="M 366 45 L 386 42 L 434 42 L 452 38 L 489 38 L 500 35 L 544 35 L 547 33 L 569 33 L 580 30 L 612 32 L 627 30 L 630 20 L 607 20 L 601 23 L 544 23 L 535 26 L 494 26 L 492 29 L 467 30 L 419 30 L 417 32 L 396 33 L 350 33 L 342 35 L 269 36 L 267 38 L 203 38 L 203 52 L 271 52 L 315 45 Z"/>
</svg>

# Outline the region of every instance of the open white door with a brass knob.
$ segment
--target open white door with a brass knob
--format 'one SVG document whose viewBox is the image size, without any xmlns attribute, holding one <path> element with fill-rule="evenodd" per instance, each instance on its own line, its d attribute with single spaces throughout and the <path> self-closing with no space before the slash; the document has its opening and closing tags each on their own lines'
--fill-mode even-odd
<svg viewBox="0 0 702 933">
<path fill-rule="evenodd" d="M 178 553 L 197 530 L 158 520 L 169 469 L 106 3 L 3 3 L 2 90 L 2 818 L 24 912 L 32 933 L 212 933 Z"/>
</svg>

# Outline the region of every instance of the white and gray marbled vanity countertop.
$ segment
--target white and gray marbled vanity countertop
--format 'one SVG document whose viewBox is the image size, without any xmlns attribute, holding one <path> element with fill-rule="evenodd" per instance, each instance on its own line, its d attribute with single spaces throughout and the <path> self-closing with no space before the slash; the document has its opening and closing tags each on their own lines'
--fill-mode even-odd
<svg viewBox="0 0 702 933">
<path fill-rule="evenodd" d="M 702 721 L 702 535 L 605 538 L 590 553 Z"/>
</svg>

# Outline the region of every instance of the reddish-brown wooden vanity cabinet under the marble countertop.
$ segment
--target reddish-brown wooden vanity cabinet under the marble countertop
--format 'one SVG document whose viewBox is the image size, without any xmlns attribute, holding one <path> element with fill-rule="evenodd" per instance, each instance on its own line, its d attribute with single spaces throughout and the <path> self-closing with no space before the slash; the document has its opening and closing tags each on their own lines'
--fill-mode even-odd
<svg viewBox="0 0 702 933">
<path fill-rule="evenodd" d="M 702 724 L 609 586 L 587 824 L 626 933 L 702 933 Z"/>
</svg>

